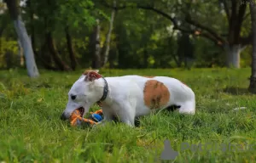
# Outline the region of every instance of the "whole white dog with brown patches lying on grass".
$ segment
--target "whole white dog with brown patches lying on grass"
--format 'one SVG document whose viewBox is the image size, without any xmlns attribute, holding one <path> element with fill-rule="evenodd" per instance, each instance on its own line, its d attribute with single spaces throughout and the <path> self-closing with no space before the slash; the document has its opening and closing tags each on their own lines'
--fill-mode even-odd
<svg viewBox="0 0 256 163">
<path fill-rule="evenodd" d="M 67 120 L 79 108 L 84 116 L 96 102 L 102 104 L 104 119 L 101 123 L 117 116 L 125 124 L 134 126 L 136 117 L 172 105 L 179 106 L 179 113 L 195 114 L 195 93 L 177 79 L 166 76 L 102 77 L 98 70 L 87 70 L 71 87 L 61 119 Z"/>
</svg>

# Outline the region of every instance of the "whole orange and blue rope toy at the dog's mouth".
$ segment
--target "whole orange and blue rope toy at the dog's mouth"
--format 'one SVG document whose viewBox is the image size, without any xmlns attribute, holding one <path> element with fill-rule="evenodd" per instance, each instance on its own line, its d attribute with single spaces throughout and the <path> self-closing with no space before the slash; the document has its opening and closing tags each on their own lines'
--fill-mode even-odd
<svg viewBox="0 0 256 163">
<path fill-rule="evenodd" d="M 90 126 L 96 125 L 99 121 L 102 121 L 102 110 L 97 110 L 96 112 L 90 112 L 90 117 L 88 119 L 82 117 L 79 109 L 74 110 L 70 116 L 71 126 L 79 126 L 83 122 L 90 124 Z"/>
</svg>

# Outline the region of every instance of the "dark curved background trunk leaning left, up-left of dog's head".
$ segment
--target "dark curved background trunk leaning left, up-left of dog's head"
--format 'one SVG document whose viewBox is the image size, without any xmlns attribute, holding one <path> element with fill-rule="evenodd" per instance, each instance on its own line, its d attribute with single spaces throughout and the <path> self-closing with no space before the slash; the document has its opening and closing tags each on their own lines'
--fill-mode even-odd
<svg viewBox="0 0 256 163">
<path fill-rule="evenodd" d="M 53 37 L 52 37 L 52 34 L 51 34 L 50 31 L 46 34 L 46 38 L 47 38 L 49 52 L 52 54 L 52 57 L 55 61 L 55 64 L 59 67 L 60 70 L 70 70 L 68 65 L 66 65 L 61 60 L 61 57 L 60 57 L 59 53 L 57 52 L 57 50 L 55 48 L 55 42 L 53 40 Z"/>
</svg>

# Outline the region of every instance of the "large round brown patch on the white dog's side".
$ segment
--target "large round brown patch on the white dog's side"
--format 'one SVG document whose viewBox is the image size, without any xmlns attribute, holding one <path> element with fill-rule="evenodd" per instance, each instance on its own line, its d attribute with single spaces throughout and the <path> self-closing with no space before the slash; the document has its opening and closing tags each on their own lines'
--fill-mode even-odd
<svg viewBox="0 0 256 163">
<path fill-rule="evenodd" d="M 149 80 L 146 82 L 143 93 L 144 104 L 151 110 L 164 107 L 168 103 L 171 96 L 164 83 L 156 80 Z"/>
</svg>

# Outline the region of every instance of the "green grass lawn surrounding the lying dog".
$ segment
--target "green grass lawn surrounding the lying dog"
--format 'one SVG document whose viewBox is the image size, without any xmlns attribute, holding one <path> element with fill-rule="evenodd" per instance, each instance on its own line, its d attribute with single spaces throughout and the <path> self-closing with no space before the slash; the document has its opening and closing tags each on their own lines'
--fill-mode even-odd
<svg viewBox="0 0 256 163">
<path fill-rule="evenodd" d="M 60 120 L 68 90 L 81 72 L 41 70 L 40 78 L 29 79 L 24 70 L 0 71 L 0 161 L 161 162 L 166 138 L 179 151 L 173 162 L 256 159 L 256 149 L 181 149 L 182 142 L 256 144 L 256 97 L 247 93 L 249 69 L 100 70 L 103 76 L 176 77 L 195 91 L 197 112 L 189 116 L 162 111 L 144 116 L 136 128 L 109 123 L 94 129 L 72 127 Z M 233 111 L 240 106 L 247 110 Z"/>
</svg>

